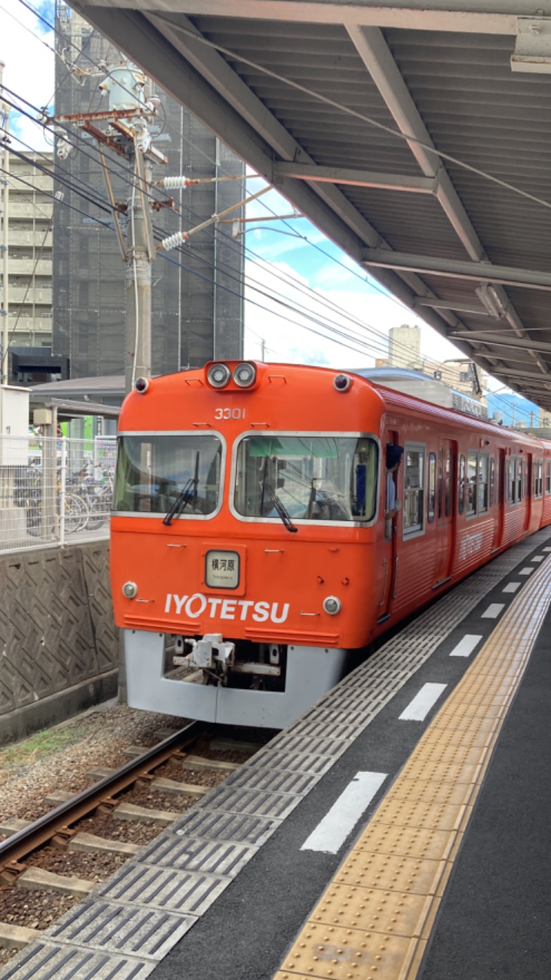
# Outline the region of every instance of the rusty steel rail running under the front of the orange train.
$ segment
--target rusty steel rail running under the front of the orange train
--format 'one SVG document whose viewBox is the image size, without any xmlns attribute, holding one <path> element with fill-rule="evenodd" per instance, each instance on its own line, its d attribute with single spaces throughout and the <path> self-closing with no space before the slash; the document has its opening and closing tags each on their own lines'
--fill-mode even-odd
<svg viewBox="0 0 551 980">
<path fill-rule="evenodd" d="M 183 748 L 190 743 L 197 742 L 199 736 L 205 731 L 205 724 L 199 721 L 192 721 L 185 728 L 180 729 L 174 735 L 164 739 L 153 749 L 136 759 L 125 762 L 124 765 L 116 769 L 112 775 L 105 776 L 97 783 L 87 787 L 65 803 L 55 809 L 49 810 L 43 816 L 38 817 L 23 830 L 18 830 L 0 844 L 0 878 L 13 878 L 19 870 L 14 865 L 17 861 L 24 858 L 31 851 L 36 850 L 46 841 L 51 840 L 56 834 L 81 819 L 91 810 L 96 809 L 101 803 L 106 802 L 113 793 L 120 793 L 127 786 L 136 782 L 142 770 L 148 770 L 169 759 L 177 748 Z M 20 869 L 20 870 L 23 870 Z"/>
</svg>

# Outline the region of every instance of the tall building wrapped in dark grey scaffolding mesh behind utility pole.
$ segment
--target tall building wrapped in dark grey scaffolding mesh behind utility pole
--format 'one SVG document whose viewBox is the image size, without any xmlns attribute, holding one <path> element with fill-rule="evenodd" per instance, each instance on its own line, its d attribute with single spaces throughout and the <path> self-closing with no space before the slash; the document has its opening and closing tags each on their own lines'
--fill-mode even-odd
<svg viewBox="0 0 551 980">
<path fill-rule="evenodd" d="M 57 116 L 107 109 L 100 82 L 120 53 L 61 0 L 56 5 Z M 207 128 L 158 87 L 161 100 L 154 142 L 168 166 L 154 176 L 236 175 L 243 163 Z M 104 172 L 95 140 L 78 128 L 67 137 L 65 160 L 55 157 L 55 189 L 63 201 L 54 212 L 53 350 L 69 358 L 72 378 L 116 374 L 124 369 L 125 264 L 119 252 Z M 62 134 L 58 136 L 63 138 Z M 127 200 L 132 174 L 126 161 L 106 151 L 115 201 Z M 174 210 L 153 212 L 158 237 L 188 230 L 238 202 L 243 179 L 203 183 L 173 195 Z M 235 212 L 239 216 L 239 211 Z M 123 228 L 124 230 L 124 228 Z M 193 243 L 158 256 L 153 266 L 152 370 L 154 374 L 200 367 L 209 359 L 243 356 L 243 238 L 231 224 L 211 226 Z"/>
</svg>

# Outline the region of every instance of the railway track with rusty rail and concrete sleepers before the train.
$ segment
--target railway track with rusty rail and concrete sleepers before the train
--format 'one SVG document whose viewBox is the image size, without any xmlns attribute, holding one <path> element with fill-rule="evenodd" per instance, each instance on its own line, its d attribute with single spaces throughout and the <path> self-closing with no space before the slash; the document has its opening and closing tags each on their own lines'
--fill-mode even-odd
<svg viewBox="0 0 551 980">
<path fill-rule="evenodd" d="M 109 877 L 114 869 L 110 860 L 115 859 L 117 862 L 115 866 L 118 866 L 140 850 L 143 841 L 135 844 L 131 841 L 103 836 L 103 832 L 101 835 L 90 834 L 83 829 L 97 814 L 112 817 L 111 821 L 107 821 L 112 824 L 114 820 L 134 820 L 140 821 L 143 826 L 143 822 L 146 821 L 152 827 L 149 838 L 151 840 L 181 815 L 181 809 L 174 811 L 152 809 L 149 806 L 128 803 L 125 797 L 131 795 L 136 788 L 146 787 L 157 791 L 161 800 L 166 800 L 167 797 L 180 800 L 186 798 L 186 801 L 193 806 L 211 787 L 198 782 L 186 782 L 186 771 L 191 770 L 190 775 L 197 778 L 198 772 L 205 773 L 209 770 L 210 774 L 214 774 L 213 784 L 216 785 L 243 764 L 243 761 L 231 762 L 207 758 L 206 748 L 210 755 L 218 756 L 221 753 L 227 755 L 228 750 L 234 753 L 238 751 L 243 759 L 250 758 L 261 745 L 261 743 L 229 742 L 220 738 L 207 742 L 207 737 L 211 738 L 211 734 L 209 736 L 205 724 L 194 721 L 163 739 L 152 749 L 141 753 L 139 748 L 129 749 L 128 753 L 134 753 L 134 758 L 113 771 L 96 771 L 96 775 L 101 775 L 98 781 L 70 796 L 69 799 L 59 802 L 57 806 L 33 822 L 23 826 L 22 820 L 5 821 L 4 832 L 13 832 L 0 843 L 0 882 L 2 883 L 0 892 L 3 900 L 0 909 L 0 951 L 3 956 L 0 956 L 0 962 L 10 956 L 8 950 L 22 949 L 35 939 L 46 925 L 51 925 L 59 915 L 63 914 L 71 904 L 86 897 L 99 880 Z M 221 752 L 212 753 L 212 749 Z M 166 763 L 173 770 L 172 774 L 181 775 L 183 772 L 184 780 L 159 775 L 159 770 L 164 771 Z M 61 796 L 65 794 L 54 795 L 57 799 Z M 154 793 L 147 794 L 148 802 L 152 796 Z M 94 880 L 88 880 L 71 874 L 70 870 L 67 873 L 70 858 L 78 858 L 79 853 L 87 853 L 91 857 L 98 856 L 99 867 L 95 870 L 99 871 L 99 878 L 96 875 Z M 48 870 L 47 865 L 52 863 L 52 855 L 60 855 L 62 862 L 64 862 L 63 856 L 67 856 L 69 863 L 64 867 L 63 874 Z M 103 865 L 99 861 L 99 856 L 102 856 L 106 867 L 103 875 Z M 58 861 L 54 860 L 54 865 L 57 864 Z M 23 892 L 23 889 L 27 891 Z M 56 893 L 57 904 L 53 900 L 52 902 L 48 899 L 41 900 L 44 908 L 41 913 L 44 924 L 40 928 L 29 928 L 18 924 L 22 920 L 22 907 L 24 909 L 28 904 L 32 907 L 31 891 L 34 892 L 35 897 L 38 892 L 42 896 Z M 62 896 L 63 899 L 59 898 Z M 46 910 L 50 914 L 45 915 Z M 40 919 L 40 913 L 37 913 L 37 919 Z"/>
</svg>

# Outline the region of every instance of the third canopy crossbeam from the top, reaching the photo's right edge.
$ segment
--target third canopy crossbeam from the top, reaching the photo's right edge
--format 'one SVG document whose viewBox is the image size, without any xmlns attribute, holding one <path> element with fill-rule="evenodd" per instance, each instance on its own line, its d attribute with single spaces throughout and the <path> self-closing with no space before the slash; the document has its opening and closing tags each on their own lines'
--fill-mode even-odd
<svg viewBox="0 0 551 980">
<path fill-rule="evenodd" d="M 492 266 L 485 262 L 462 262 L 455 259 L 438 259 L 430 255 L 409 255 L 384 249 L 367 248 L 362 253 L 362 266 L 383 269 L 408 270 L 449 276 L 452 279 L 472 279 L 477 282 L 500 282 L 510 286 L 527 286 L 531 289 L 551 290 L 551 272 L 515 269 L 509 266 Z"/>
</svg>

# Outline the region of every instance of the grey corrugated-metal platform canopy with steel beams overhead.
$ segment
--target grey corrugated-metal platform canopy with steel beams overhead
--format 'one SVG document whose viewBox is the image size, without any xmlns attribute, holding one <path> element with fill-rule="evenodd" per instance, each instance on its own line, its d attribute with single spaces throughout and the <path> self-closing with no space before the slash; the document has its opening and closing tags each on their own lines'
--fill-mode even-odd
<svg viewBox="0 0 551 980">
<path fill-rule="evenodd" d="M 419 318 L 551 409 L 551 0 L 71 0 Z"/>
</svg>

